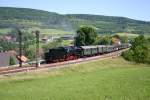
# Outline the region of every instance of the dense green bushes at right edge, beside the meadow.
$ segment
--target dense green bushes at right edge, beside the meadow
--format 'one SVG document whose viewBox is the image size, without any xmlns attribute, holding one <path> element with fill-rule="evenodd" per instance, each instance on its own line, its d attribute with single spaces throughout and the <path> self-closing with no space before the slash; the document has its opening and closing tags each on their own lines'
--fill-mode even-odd
<svg viewBox="0 0 150 100">
<path fill-rule="evenodd" d="M 122 56 L 128 61 L 150 64 L 150 38 L 138 36 L 134 39 L 130 50 L 124 52 Z"/>
</svg>

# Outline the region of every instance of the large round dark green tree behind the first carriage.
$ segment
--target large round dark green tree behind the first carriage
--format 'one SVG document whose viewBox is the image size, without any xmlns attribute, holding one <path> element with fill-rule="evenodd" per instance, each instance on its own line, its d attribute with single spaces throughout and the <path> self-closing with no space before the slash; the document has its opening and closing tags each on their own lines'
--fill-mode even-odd
<svg viewBox="0 0 150 100">
<path fill-rule="evenodd" d="M 77 30 L 76 46 L 92 45 L 97 40 L 97 32 L 93 27 L 83 26 Z"/>
</svg>

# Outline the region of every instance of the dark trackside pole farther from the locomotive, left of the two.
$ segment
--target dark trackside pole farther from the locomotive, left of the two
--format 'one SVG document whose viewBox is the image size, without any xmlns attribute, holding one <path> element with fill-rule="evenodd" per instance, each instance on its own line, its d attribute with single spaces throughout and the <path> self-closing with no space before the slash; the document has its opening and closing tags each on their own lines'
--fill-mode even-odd
<svg viewBox="0 0 150 100">
<path fill-rule="evenodd" d="M 18 30 L 18 34 L 19 34 L 19 67 L 22 67 L 22 61 L 21 61 L 21 57 L 22 57 L 22 32 L 20 30 Z"/>
</svg>

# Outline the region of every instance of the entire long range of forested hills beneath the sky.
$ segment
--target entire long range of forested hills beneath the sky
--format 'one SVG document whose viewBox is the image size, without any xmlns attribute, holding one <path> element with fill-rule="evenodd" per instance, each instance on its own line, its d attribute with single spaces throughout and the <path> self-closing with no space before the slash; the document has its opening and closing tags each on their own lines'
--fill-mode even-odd
<svg viewBox="0 0 150 100">
<path fill-rule="evenodd" d="M 0 7 L 0 29 L 38 27 L 41 29 L 72 31 L 81 25 L 94 26 L 99 33 L 131 32 L 150 34 L 150 22 L 124 17 L 87 14 L 61 15 L 28 8 Z"/>
</svg>

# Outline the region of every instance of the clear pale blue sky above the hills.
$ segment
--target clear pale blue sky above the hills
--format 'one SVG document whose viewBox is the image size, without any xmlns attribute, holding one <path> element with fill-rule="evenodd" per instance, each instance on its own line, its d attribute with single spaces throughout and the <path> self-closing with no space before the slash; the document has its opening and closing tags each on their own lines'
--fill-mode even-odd
<svg viewBox="0 0 150 100">
<path fill-rule="evenodd" d="M 150 21 L 150 0 L 0 0 L 0 7 L 21 7 L 60 14 L 121 16 Z"/>
</svg>

